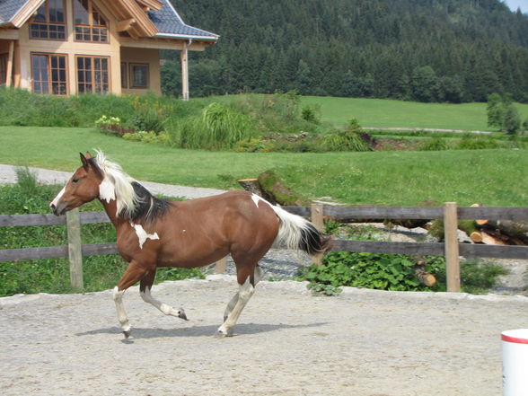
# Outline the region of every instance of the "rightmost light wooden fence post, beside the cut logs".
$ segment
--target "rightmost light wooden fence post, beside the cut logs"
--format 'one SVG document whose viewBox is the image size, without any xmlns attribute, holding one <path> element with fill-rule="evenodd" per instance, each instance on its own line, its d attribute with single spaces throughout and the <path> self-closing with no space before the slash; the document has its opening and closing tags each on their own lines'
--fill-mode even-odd
<svg viewBox="0 0 528 396">
<path fill-rule="evenodd" d="M 445 275 L 447 291 L 460 292 L 460 260 L 458 246 L 458 216 L 456 202 L 444 206 Z"/>
</svg>

